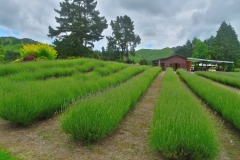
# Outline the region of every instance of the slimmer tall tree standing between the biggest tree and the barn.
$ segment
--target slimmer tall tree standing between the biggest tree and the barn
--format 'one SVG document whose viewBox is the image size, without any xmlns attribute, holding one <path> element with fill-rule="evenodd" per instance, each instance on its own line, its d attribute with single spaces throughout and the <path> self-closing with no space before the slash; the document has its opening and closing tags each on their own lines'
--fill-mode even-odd
<svg viewBox="0 0 240 160">
<path fill-rule="evenodd" d="M 129 60 L 129 53 L 141 43 L 139 35 L 134 33 L 133 21 L 128 16 L 117 16 L 116 21 L 111 21 L 112 36 L 107 36 L 108 46 L 116 52 L 119 51 L 121 60 Z"/>
</svg>

